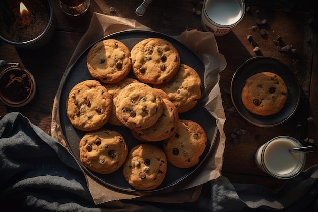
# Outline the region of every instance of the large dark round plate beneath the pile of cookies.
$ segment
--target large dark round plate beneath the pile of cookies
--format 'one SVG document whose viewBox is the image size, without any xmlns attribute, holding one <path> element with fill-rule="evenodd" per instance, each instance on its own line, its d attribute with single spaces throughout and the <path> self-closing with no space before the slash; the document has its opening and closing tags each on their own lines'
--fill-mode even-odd
<svg viewBox="0 0 318 212">
<path fill-rule="evenodd" d="M 152 31 L 130 30 L 130 31 L 122 31 L 115 34 L 111 34 L 109 36 L 104 37 L 103 39 L 111 38 L 111 39 L 119 40 L 123 42 L 129 49 L 132 49 L 132 47 L 137 42 L 149 37 L 163 38 L 169 41 L 178 50 L 180 54 L 180 58 L 181 58 L 181 63 L 187 64 L 193 67 L 198 72 L 201 79 L 203 79 L 204 65 L 201 62 L 201 60 L 197 57 L 197 55 L 194 52 L 188 49 L 185 45 L 183 45 L 178 40 L 170 36 L 157 33 L 157 32 L 152 32 Z M 59 118 L 60 118 L 60 126 L 62 129 L 62 134 L 65 138 L 65 141 L 71 153 L 74 155 L 75 159 L 79 162 L 81 167 L 85 170 L 87 174 L 91 175 L 94 179 L 98 180 L 100 183 L 106 186 L 118 189 L 118 190 L 125 191 L 125 192 L 150 192 L 150 191 L 136 190 L 132 186 L 130 186 L 122 174 L 122 168 L 110 174 L 99 174 L 86 168 L 80 161 L 79 142 L 81 138 L 84 136 L 85 132 L 75 129 L 70 124 L 69 119 L 66 115 L 65 103 L 67 101 L 68 94 L 74 85 L 84 80 L 93 79 L 91 75 L 89 74 L 87 65 L 86 65 L 87 54 L 91 46 L 88 47 L 79 56 L 75 64 L 71 67 L 66 79 L 62 82 L 62 90 L 61 90 L 61 95 L 59 97 Z M 130 72 L 128 77 L 135 78 L 132 72 Z M 151 190 L 151 192 L 160 191 L 160 190 L 175 186 L 176 184 L 180 183 L 180 181 L 190 176 L 198 167 L 200 167 L 202 162 L 207 158 L 217 138 L 218 129 L 215 123 L 215 118 L 211 116 L 210 113 L 205 108 L 203 108 L 202 103 L 198 102 L 195 108 L 193 108 L 192 110 L 186 113 L 180 114 L 179 118 L 194 120 L 195 122 L 199 123 L 203 127 L 208 138 L 206 149 L 200 158 L 199 164 L 197 164 L 196 166 L 192 168 L 181 169 L 181 168 L 174 167 L 170 163 L 168 163 L 167 173 L 163 183 L 157 188 Z M 140 144 L 140 141 L 136 140 L 131 135 L 130 130 L 126 127 L 114 126 L 110 124 L 106 124 L 105 127 L 110 130 L 115 130 L 119 132 L 125 138 L 129 150 L 135 145 Z M 153 144 L 158 145 L 160 147 L 162 145 L 161 142 L 154 142 Z"/>
</svg>

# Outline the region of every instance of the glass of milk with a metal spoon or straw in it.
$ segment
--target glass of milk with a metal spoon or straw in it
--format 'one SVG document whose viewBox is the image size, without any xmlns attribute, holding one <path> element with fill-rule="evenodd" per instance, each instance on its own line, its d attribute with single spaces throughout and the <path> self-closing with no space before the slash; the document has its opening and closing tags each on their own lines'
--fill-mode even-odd
<svg viewBox="0 0 318 212">
<path fill-rule="evenodd" d="M 255 154 L 256 165 L 278 179 L 290 179 L 301 173 L 306 163 L 306 153 L 290 153 L 289 149 L 302 147 L 289 136 L 278 136 L 263 144 Z"/>
</svg>

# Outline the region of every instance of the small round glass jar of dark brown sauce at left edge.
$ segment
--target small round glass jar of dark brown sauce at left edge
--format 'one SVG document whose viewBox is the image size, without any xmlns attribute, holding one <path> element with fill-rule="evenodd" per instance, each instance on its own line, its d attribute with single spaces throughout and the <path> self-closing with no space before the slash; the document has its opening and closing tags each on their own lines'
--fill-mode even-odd
<svg viewBox="0 0 318 212">
<path fill-rule="evenodd" d="M 22 107 L 36 93 L 33 75 L 23 67 L 11 66 L 0 73 L 0 100 L 10 107 Z"/>
</svg>

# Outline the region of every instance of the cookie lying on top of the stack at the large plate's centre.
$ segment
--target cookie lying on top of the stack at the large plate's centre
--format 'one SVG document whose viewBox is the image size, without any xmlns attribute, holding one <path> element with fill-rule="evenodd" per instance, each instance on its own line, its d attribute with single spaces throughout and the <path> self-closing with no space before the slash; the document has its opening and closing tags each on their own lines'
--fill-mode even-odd
<svg viewBox="0 0 318 212">
<path fill-rule="evenodd" d="M 130 129 L 145 129 L 157 122 L 164 109 L 163 100 L 142 82 L 125 86 L 117 96 L 116 115 Z"/>
</svg>

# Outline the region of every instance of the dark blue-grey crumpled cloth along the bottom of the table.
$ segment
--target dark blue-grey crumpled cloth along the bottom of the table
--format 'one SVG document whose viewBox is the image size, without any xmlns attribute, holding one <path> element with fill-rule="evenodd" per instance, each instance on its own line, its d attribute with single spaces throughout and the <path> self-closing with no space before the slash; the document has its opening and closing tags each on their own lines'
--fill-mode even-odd
<svg viewBox="0 0 318 212">
<path fill-rule="evenodd" d="M 0 120 L 0 204 L 11 211 L 318 211 L 317 178 L 313 166 L 273 191 L 220 176 L 203 185 L 195 202 L 95 205 L 78 163 L 60 143 L 21 113 Z"/>
</svg>

